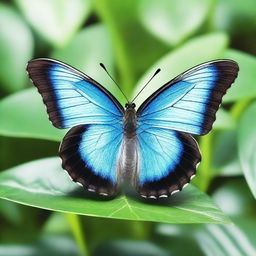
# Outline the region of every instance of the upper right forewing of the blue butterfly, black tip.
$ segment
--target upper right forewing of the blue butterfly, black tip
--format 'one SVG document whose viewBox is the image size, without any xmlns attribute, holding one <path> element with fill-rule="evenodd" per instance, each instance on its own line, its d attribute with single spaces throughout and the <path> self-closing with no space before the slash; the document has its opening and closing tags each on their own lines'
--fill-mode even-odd
<svg viewBox="0 0 256 256">
<path fill-rule="evenodd" d="M 231 60 L 211 61 L 188 70 L 162 86 L 139 107 L 139 125 L 207 134 L 238 70 L 237 63 Z"/>
</svg>

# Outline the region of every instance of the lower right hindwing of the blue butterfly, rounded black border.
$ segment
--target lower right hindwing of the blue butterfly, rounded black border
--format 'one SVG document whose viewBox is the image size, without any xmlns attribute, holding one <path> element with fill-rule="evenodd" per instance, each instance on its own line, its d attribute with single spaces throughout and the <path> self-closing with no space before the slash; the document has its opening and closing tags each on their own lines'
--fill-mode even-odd
<svg viewBox="0 0 256 256">
<path fill-rule="evenodd" d="M 186 133 L 143 125 L 138 128 L 138 192 L 146 198 L 170 196 L 182 190 L 196 173 L 201 155 Z"/>
</svg>

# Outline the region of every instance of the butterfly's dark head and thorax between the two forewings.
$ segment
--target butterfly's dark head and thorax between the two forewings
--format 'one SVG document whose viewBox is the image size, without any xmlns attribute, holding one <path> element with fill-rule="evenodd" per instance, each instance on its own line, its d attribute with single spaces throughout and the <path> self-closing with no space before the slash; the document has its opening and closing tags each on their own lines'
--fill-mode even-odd
<svg viewBox="0 0 256 256">
<path fill-rule="evenodd" d="M 134 103 L 127 103 L 125 105 L 125 114 L 124 114 L 124 133 L 126 138 L 133 138 L 136 135 L 137 129 L 137 117 Z"/>
</svg>

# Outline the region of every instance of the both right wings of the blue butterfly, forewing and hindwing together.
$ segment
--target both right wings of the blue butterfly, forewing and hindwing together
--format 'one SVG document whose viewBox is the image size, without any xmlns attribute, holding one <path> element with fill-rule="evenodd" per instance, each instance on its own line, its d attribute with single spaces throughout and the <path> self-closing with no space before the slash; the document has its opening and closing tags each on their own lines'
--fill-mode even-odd
<svg viewBox="0 0 256 256">
<path fill-rule="evenodd" d="M 238 65 L 207 62 L 171 80 L 138 109 L 138 171 L 135 186 L 144 197 L 167 197 L 196 173 L 201 155 L 191 134 L 207 134 Z"/>
</svg>

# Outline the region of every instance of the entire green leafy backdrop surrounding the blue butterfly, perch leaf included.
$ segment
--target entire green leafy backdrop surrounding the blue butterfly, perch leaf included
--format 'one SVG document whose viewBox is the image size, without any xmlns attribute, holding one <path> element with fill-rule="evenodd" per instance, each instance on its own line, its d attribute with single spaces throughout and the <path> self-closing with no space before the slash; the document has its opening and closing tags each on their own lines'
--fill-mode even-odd
<svg viewBox="0 0 256 256">
<path fill-rule="evenodd" d="M 0 255 L 256 255 L 255 14 L 255 0 L 0 1 Z M 59 167 L 65 131 L 25 72 L 36 57 L 80 69 L 122 103 L 100 62 L 129 98 L 161 68 L 137 104 L 204 61 L 229 58 L 240 73 L 198 139 L 193 185 L 164 204 L 99 201 L 73 193 Z"/>
</svg>

